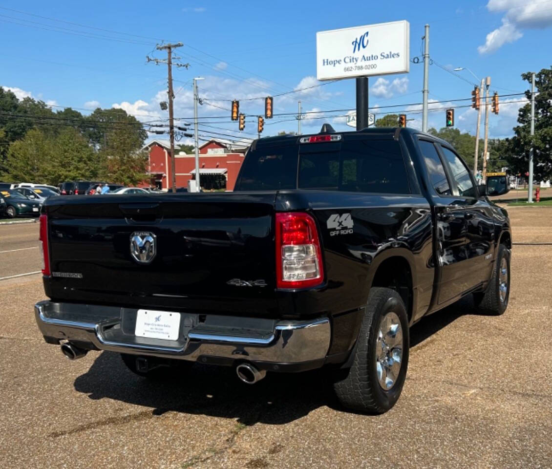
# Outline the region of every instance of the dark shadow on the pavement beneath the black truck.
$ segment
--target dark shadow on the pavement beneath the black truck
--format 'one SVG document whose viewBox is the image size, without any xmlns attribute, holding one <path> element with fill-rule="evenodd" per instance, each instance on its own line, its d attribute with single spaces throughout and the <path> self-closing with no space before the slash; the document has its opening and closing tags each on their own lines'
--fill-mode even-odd
<svg viewBox="0 0 552 469">
<path fill-rule="evenodd" d="M 466 314 L 478 314 L 471 299 L 422 319 L 411 329 L 412 347 Z M 289 423 L 323 406 L 343 410 L 324 370 L 269 373 L 251 386 L 239 381 L 233 368 L 194 364 L 184 374 L 175 371 L 155 381 L 134 375 L 118 354 L 102 352 L 74 385 L 91 399 L 110 398 L 152 408 L 153 415 L 183 412 L 237 418 L 244 425 Z"/>
</svg>

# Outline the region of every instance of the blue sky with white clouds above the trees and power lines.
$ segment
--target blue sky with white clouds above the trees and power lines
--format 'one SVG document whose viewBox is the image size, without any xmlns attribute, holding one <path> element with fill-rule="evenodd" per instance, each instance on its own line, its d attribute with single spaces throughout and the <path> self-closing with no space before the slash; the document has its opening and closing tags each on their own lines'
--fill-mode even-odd
<svg viewBox="0 0 552 469">
<path fill-rule="evenodd" d="M 491 93 L 523 92 L 528 84 L 521 73 L 550 66 L 552 0 L 204 1 L 155 7 L 151 2 L 7 0 L 0 8 L 0 86 L 52 106 L 116 106 L 142 121 L 164 121 L 167 113 L 158 103 L 166 100 L 167 68 L 146 63 L 145 57 L 166 58 L 154 50 L 156 43 L 182 41 L 185 46 L 177 54 L 191 67 L 174 69 L 175 115 L 193 115 L 191 79 L 202 76 L 200 97 L 205 103 L 200 118 L 226 129 L 201 126 L 203 135 L 218 131 L 240 136 L 236 122 L 207 118 L 229 115 L 219 108 L 230 108 L 234 98 L 241 99 L 240 111 L 263 114 L 262 100 L 245 99 L 319 84 L 316 31 L 403 19 L 410 22 L 411 57 L 420 56 L 428 23 L 433 60 L 448 70 L 468 67 L 479 78 L 491 76 Z M 430 113 L 429 124 L 442 127 L 447 100 L 469 97 L 475 78 L 467 71 L 445 71 L 437 63 L 429 70 L 429 98 L 442 102 L 433 106 L 443 110 Z M 369 105 L 379 106 L 376 116 L 392 110 L 382 106 L 399 104 L 395 109 L 413 119 L 409 125 L 420 126 L 420 106 L 412 104 L 422 100 L 422 77 L 422 64 L 411 63 L 410 73 L 370 78 Z M 304 111 L 354 108 L 355 83 L 348 79 L 274 98 L 274 112 L 293 113 L 299 99 Z M 501 99 L 500 114 L 490 116 L 491 137 L 512 134 L 520 99 Z M 457 109 L 455 124 L 475 133 L 475 116 L 473 109 Z M 349 128 L 344 118 L 309 117 L 303 121 L 303 133 L 318 131 L 325 121 L 338 130 Z M 248 121 L 241 135 L 253 137 L 256 127 Z M 282 130 L 297 130 L 293 116 L 267 120 L 264 135 Z"/>
</svg>

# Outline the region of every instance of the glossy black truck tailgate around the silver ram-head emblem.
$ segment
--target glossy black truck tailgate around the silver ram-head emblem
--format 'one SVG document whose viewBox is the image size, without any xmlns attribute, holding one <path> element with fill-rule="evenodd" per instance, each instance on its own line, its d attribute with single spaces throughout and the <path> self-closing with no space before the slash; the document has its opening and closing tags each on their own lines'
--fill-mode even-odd
<svg viewBox="0 0 552 469">
<path fill-rule="evenodd" d="M 56 198 L 46 205 L 55 300 L 273 317 L 274 192 Z M 140 263 L 131 237 L 150 236 Z"/>
</svg>

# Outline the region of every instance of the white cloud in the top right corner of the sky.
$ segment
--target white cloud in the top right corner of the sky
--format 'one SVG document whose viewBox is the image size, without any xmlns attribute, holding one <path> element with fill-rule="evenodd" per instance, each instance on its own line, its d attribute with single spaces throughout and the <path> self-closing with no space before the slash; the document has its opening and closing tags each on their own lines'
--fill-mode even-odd
<svg viewBox="0 0 552 469">
<path fill-rule="evenodd" d="M 552 25 L 552 0 L 489 0 L 490 12 L 506 12 L 502 25 L 487 34 L 485 44 L 477 47 L 489 54 L 504 44 L 517 41 L 523 29 L 544 29 Z"/>
</svg>

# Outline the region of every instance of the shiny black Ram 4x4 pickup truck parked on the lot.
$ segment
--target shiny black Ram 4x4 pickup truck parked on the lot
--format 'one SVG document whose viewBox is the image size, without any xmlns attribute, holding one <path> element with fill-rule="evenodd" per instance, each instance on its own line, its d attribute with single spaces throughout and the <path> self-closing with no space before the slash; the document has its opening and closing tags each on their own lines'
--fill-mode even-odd
<svg viewBox="0 0 552 469">
<path fill-rule="evenodd" d="M 253 142 L 233 193 L 51 198 L 36 322 L 144 376 L 324 366 L 345 407 L 385 412 L 413 323 L 465 295 L 506 309 L 511 229 L 485 190 L 431 135 L 323 127 Z"/>
</svg>

